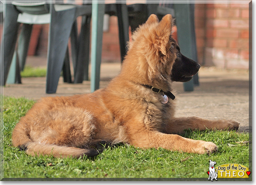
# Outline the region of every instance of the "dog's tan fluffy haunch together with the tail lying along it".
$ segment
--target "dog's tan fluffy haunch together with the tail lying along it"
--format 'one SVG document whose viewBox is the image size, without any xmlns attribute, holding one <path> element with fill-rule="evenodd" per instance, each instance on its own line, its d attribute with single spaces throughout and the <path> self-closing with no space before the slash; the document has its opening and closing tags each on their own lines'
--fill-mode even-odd
<svg viewBox="0 0 256 185">
<path fill-rule="evenodd" d="M 96 149 L 86 149 L 96 128 L 94 117 L 89 112 L 75 107 L 37 112 L 22 117 L 15 126 L 12 136 L 15 147 L 33 156 L 98 155 Z"/>
</svg>

